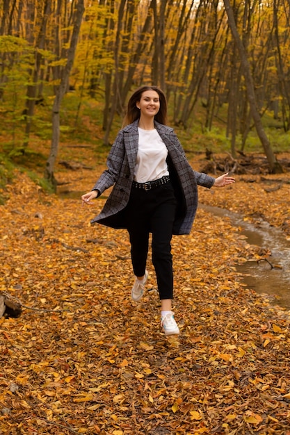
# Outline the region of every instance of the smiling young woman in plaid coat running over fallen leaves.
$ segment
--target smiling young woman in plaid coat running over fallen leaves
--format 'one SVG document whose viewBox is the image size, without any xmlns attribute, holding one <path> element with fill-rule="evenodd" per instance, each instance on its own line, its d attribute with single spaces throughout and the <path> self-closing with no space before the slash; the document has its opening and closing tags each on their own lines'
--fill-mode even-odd
<svg viewBox="0 0 290 435">
<path fill-rule="evenodd" d="M 92 190 L 81 197 L 91 204 L 114 186 L 101 213 L 92 220 L 113 228 L 126 228 L 131 243 L 135 281 L 134 301 L 143 296 L 148 273 L 146 261 L 152 233 L 152 263 L 161 299 L 161 325 L 168 335 L 179 334 L 172 313 L 172 234 L 191 231 L 198 206 L 198 187 L 223 187 L 234 178 L 214 179 L 189 165 L 172 128 L 166 126 L 167 104 L 162 90 L 144 86 L 128 102 L 124 127 L 107 159 L 107 169 Z"/>
</svg>

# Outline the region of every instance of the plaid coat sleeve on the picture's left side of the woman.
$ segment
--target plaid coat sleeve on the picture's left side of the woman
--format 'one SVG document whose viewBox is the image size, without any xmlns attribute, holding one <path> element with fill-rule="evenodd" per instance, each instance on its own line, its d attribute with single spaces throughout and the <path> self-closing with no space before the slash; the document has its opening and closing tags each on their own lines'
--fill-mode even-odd
<svg viewBox="0 0 290 435">
<path fill-rule="evenodd" d="M 122 130 L 118 133 L 106 160 L 107 169 L 104 170 L 95 183 L 95 186 L 92 188 L 92 190 L 99 190 L 100 194 L 113 186 L 120 175 L 125 155 L 123 134 Z"/>
</svg>

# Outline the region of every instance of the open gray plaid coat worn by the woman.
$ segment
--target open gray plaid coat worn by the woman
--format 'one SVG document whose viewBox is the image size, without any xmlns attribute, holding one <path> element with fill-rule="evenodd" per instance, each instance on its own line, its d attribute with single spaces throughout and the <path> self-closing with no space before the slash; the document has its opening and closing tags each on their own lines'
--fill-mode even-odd
<svg viewBox="0 0 290 435">
<path fill-rule="evenodd" d="M 196 172 L 189 165 L 182 145 L 172 128 L 155 122 L 156 130 L 168 149 L 168 170 L 177 197 L 177 214 L 173 234 L 191 231 L 198 207 L 198 186 L 211 188 L 215 179 Z M 107 169 L 101 174 L 92 190 L 113 186 L 101 213 L 92 219 L 113 228 L 126 228 L 125 208 L 129 201 L 136 155 L 138 151 L 138 120 L 124 127 L 119 133 L 107 159 Z"/>
</svg>

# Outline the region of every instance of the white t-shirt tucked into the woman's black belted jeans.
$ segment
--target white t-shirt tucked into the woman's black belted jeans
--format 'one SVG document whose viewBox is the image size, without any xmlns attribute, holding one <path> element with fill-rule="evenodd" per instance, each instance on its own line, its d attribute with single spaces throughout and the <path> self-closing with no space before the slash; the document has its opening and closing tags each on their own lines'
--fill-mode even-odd
<svg viewBox="0 0 290 435">
<path fill-rule="evenodd" d="M 146 183 L 169 175 L 166 163 L 168 149 L 157 130 L 143 130 L 138 127 L 138 135 L 134 180 L 138 183 Z"/>
</svg>

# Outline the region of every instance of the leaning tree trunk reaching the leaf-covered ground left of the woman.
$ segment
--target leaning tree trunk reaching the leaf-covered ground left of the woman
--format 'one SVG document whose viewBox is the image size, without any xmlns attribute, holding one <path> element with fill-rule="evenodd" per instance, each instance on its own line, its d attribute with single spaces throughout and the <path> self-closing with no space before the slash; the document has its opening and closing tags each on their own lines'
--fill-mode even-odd
<svg viewBox="0 0 290 435">
<path fill-rule="evenodd" d="M 45 178 L 49 180 L 51 186 L 56 190 L 56 179 L 54 177 L 54 165 L 56 163 L 56 157 L 58 155 L 58 143 L 59 143 L 59 135 L 60 135 L 60 109 L 61 102 L 63 101 L 63 97 L 67 90 L 67 83 L 70 76 L 70 72 L 72 69 L 72 65 L 74 63 L 74 54 L 76 51 L 76 44 L 79 37 L 79 30 L 81 28 L 81 20 L 83 17 L 83 0 L 78 0 L 76 4 L 76 12 L 74 17 L 74 28 L 72 31 L 72 39 L 70 40 L 70 49 L 67 53 L 67 63 L 63 69 L 61 76 L 61 84 L 56 92 L 56 96 L 54 98 L 54 106 L 52 107 L 52 137 L 51 137 L 51 149 L 49 158 L 47 159 L 47 165 L 45 167 Z"/>
</svg>

